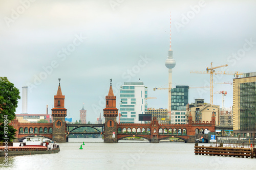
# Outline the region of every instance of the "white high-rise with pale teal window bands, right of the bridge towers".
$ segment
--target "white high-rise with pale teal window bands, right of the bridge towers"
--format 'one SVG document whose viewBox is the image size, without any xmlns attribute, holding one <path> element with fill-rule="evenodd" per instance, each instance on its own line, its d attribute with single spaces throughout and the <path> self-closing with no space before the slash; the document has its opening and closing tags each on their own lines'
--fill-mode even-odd
<svg viewBox="0 0 256 170">
<path fill-rule="evenodd" d="M 147 109 L 147 87 L 143 82 L 124 82 L 120 89 L 120 123 L 141 123 L 139 114 L 145 114 Z"/>
</svg>

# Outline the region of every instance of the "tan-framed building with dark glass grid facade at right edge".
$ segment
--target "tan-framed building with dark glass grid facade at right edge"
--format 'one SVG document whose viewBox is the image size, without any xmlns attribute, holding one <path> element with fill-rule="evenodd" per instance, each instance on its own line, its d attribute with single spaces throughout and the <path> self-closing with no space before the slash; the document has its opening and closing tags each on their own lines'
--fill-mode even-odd
<svg viewBox="0 0 256 170">
<path fill-rule="evenodd" d="M 234 136 L 253 137 L 256 128 L 256 72 L 233 79 Z"/>
</svg>

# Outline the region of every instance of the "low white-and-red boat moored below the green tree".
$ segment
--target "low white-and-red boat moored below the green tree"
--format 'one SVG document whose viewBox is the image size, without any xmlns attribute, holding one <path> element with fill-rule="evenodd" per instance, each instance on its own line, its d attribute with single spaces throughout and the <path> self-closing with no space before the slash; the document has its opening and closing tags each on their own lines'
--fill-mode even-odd
<svg viewBox="0 0 256 170">
<path fill-rule="evenodd" d="M 46 140 L 44 136 L 27 136 L 25 142 L 20 142 L 18 147 L 0 147 L 0 156 L 52 154 L 59 152 L 56 142 Z"/>
</svg>

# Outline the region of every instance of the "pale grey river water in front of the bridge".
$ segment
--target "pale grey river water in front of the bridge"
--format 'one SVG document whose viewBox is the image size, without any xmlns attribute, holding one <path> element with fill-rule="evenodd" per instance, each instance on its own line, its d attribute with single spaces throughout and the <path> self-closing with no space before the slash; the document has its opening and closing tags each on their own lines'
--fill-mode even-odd
<svg viewBox="0 0 256 170">
<path fill-rule="evenodd" d="M 80 145 L 83 150 L 79 150 Z M 0 158 L 0 169 L 255 169 L 256 159 L 195 155 L 194 143 L 70 138 L 57 154 Z M 207 145 L 207 144 L 205 144 Z"/>
</svg>

